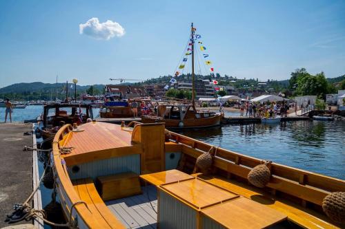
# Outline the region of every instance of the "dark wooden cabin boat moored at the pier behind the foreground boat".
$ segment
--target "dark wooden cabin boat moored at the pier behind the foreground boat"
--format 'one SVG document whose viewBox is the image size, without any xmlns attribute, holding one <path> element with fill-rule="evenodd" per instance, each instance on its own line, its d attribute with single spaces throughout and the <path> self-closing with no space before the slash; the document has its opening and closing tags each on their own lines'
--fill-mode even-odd
<svg viewBox="0 0 345 229">
<path fill-rule="evenodd" d="M 43 140 L 52 142 L 61 124 L 82 124 L 93 118 L 91 105 L 53 103 L 43 107 L 39 132 Z"/>
</svg>

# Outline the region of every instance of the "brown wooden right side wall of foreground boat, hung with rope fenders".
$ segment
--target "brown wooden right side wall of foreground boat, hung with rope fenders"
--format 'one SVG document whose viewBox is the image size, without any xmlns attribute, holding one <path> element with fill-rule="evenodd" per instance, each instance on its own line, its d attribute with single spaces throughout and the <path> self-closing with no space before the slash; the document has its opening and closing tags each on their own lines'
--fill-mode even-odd
<svg viewBox="0 0 345 229">
<path fill-rule="evenodd" d="M 178 144 L 182 144 L 182 153 L 186 153 L 192 157 L 198 157 L 201 153 L 210 150 L 211 144 L 207 144 L 193 138 L 188 138 L 178 133 L 170 132 L 171 140 Z M 228 177 L 242 177 L 247 179 L 251 168 L 262 164 L 263 160 L 255 157 L 242 155 L 226 149 L 216 147 L 216 155 L 214 165 L 221 170 L 226 171 Z M 322 200 L 331 192 L 345 191 L 345 181 L 318 173 L 304 171 L 290 166 L 284 166 L 275 162 L 269 164 L 272 178 L 267 184 L 274 193 L 276 190 L 287 193 L 299 199 L 302 204 L 306 201 L 322 205 Z"/>
</svg>

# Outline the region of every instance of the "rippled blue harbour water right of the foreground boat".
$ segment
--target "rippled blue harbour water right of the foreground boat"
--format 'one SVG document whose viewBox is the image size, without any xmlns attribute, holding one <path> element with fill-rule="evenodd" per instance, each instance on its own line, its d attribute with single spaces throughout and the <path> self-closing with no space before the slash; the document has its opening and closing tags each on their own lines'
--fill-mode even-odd
<svg viewBox="0 0 345 229">
<path fill-rule="evenodd" d="M 290 121 L 180 131 L 245 155 L 345 179 L 345 122 Z"/>
</svg>

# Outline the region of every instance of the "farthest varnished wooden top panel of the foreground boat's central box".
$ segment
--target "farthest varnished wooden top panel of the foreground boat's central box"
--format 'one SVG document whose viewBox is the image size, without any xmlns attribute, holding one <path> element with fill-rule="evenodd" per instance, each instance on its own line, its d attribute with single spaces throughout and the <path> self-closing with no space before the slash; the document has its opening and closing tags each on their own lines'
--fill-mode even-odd
<svg viewBox="0 0 345 229">
<path fill-rule="evenodd" d="M 177 169 L 162 171 L 158 173 L 144 174 L 144 175 L 140 175 L 139 177 L 141 179 L 144 179 L 144 181 L 150 184 L 153 184 L 155 186 L 194 178 L 193 176 L 188 175 L 187 173 L 178 171 Z"/>
</svg>

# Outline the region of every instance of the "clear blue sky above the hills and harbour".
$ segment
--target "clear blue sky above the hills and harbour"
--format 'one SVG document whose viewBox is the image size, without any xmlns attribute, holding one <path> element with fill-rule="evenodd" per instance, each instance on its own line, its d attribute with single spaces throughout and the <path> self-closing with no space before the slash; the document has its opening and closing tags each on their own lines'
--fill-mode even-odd
<svg viewBox="0 0 345 229">
<path fill-rule="evenodd" d="M 79 34 L 96 17 L 125 34 Z M 345 74 L 345 1 L 0 1 L 0 87 L 174 74 L 190 22 L 215 72 L 287 79 L 306 67 Z"/>
</svg>

